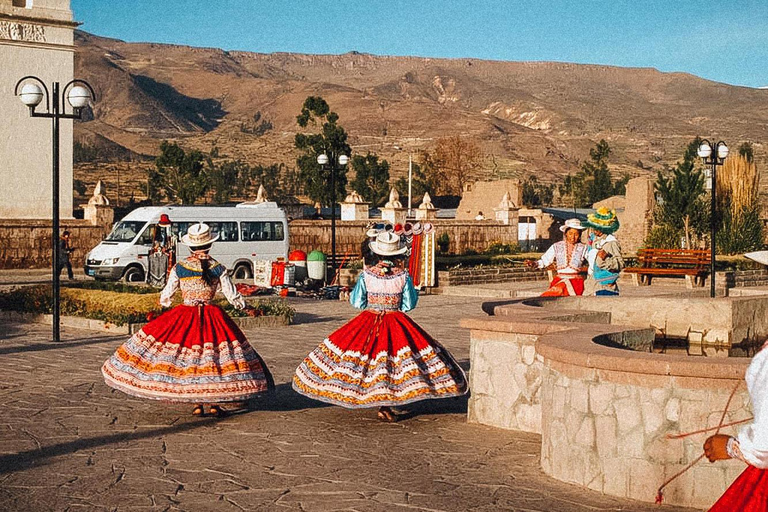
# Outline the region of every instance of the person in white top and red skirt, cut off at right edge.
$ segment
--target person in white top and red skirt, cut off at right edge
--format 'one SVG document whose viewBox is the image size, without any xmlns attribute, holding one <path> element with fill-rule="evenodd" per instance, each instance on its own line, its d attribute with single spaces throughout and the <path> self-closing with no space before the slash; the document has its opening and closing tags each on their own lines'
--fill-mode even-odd
<svg viewBox="0 0 768 512">
<path fill-rule="evenodd" d="M 710 512 L 768 511 L 768 350 L 752 358 L 745 380 L 752 402 L 754 421 L 741 429 L 739 435 L 711 436 L 704 443 L 704 453 L 710 462 L 741 459 L 749 466 L 739 475 L 725 494 L 709 509 Z"/>
</svg>

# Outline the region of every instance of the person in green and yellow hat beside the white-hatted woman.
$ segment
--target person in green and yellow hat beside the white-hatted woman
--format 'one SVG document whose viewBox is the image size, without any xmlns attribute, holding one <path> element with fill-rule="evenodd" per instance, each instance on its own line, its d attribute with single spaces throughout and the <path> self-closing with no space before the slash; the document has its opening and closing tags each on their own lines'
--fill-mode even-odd
<svg viewBox="0 0 768 512">
<path fill-rule="evenodd" d="M 614 210 L 598 208 L 587 215 L 589 236 L 589 273 L 584 285 L 584 295 L 612 296 L 619 294 L 619 273 L 624 268 L 621 245 L 614 236 L 619 229 L 619 219 Z"/>
</svg>

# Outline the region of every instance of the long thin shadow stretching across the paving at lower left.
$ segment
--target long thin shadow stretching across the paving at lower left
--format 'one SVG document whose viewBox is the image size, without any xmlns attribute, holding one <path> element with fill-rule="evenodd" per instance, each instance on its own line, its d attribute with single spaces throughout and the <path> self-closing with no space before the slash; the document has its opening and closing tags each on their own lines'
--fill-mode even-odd
<svg viewBox="0 0 768 512">
<path fill-rule="evenodd" d="M 43 446 L 35 450 L 26 450 L 19 453 L 0 456 L 0 475 L 14 473 L 29 469 L 31 466 L 40 466 L 46 463 L 51 457 L 60 455 L 69 455 L 80 450 L 88 450 L 98 446 L 104 446 L 113 443 L 124 443 L 138 439 L 146 439 L 156 436 L 175 434 L 194 430 L 204 425 L 210 425 L 218 421 L 218 418 L 203 418 L 181 425 L 174 425 L 167 428 L 153 428 L 140 432 L 120 432 L 106 436 L 90 437 L 85 439 L 76 439 L 66 443 L 54 444 L 52 446 Z"/>
</svg>

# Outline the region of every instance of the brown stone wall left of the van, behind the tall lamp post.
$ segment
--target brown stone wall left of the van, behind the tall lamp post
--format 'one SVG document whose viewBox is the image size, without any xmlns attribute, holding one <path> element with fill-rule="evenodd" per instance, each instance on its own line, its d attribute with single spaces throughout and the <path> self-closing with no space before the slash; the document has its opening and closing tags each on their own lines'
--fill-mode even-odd
<svg viewBox="0 0 768 512">
<path fill-rule="evenodd" d="M 73 267 L 83 266 L 85 255 L 109 234 L 109 229 L 83 220 L 61 222 L 61 232 L 72 233 Z M 0 268 L 50 268 L 51 231 L 50 221 L 0 220 Z"/>
</svg>

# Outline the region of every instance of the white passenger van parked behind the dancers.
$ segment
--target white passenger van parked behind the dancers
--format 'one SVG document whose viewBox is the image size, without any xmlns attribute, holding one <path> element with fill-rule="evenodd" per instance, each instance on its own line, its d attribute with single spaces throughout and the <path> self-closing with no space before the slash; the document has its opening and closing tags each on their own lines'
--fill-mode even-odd
<svg viewBox="0 0 768 512">
<path fill-rule="evenodd" d="M 253 276 L 254 260 L 288 259 L 288 220 L 276 203 L 237 206 L 149 206 L 137 208 L 117 222 L 112 232 L 88 253 L 85 274 L 96 279 L 131 282 L 147 276 L 149 249 L 160 215 L 170 217 L 171 232 L 180 240 L 192 224 L 205 222 L 219 239 L 211 256 L 237 278 Z M 177 245 L 179 260 L 189 249 Z"/>
</svg>

